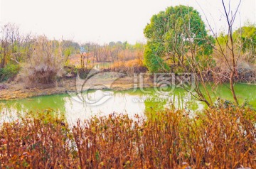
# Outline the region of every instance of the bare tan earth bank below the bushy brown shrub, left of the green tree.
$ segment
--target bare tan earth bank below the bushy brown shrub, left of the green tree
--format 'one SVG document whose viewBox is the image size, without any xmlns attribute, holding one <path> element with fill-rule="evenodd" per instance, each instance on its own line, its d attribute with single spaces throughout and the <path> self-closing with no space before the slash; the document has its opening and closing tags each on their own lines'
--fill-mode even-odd
<svg viewBox="0 0 256 169">
<path fill-rule="evenodd" d="M 81 92 L 81 89 L 113 89 L 126 90 L 134 87 L 133 77 L 122 77 L 113 82 L 113 78 L 98 78 L 92 83 L 84 84 L 83 80 L 78 82 L 76 78 L 60 80 L 55 84 L 40 84 L 38 86 L 26 87 L 24 83 L 9 82 L 2 83 L 0 89 L 0 100 L 25 99 L 28 97 L 37 97 L 51 94 L 63 94 L 67 92 Z M 97 84 L 97 85 L 95 85 Z M 99 85 L 102 84 L 102 85 Z M 143 87 L 152 87 L 153 82 L 149 79 L 144 80 Z"/>
</svg>

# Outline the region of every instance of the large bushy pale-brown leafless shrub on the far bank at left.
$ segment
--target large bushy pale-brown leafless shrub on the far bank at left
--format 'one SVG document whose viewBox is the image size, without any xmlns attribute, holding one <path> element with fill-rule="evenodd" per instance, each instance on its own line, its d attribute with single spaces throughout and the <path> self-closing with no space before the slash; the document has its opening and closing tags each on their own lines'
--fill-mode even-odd
<svg viewBox="0 0 256 169">
<path fill-rule="evenodd" d="M 63 74 L 63 55 L 58 42 L 49 41 L 45 36 L 38 37 L 33 54 L 23 64 L 19 78 L 26 84 L 48 84 Z"/>
</svg>

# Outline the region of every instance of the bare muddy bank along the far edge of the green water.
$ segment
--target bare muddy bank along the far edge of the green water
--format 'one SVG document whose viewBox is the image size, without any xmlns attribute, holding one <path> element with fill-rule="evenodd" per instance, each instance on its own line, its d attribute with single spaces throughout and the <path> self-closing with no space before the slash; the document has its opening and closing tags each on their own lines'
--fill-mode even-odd
<svg viewBox="0 0 256 169">
<path fill-rule="evenodd" d="M 256 84 L 256 75 L 252 74 L 254 71 L 243 72 L 243 75 L 238 75 L 235 78 L 236 82 L 245 82 L 247 84 Z M 85 89 L 113 89 L 116 91 L 132 89 L 134 85 L 137 85 L 137 82 L 134 82 L 134 77 L 112 77 L 114 74 L 101 74 L 99 77 L 95 76 L 92 81 L 78 80 L 76 77 L 72 78 L 63 78 L 60 82 L 55 84 L 36 84 L 33 87 L 27 87 L 26 84 L 21 82 L 9 82 L 9 83 L 0 83 L 0 100 L 9 100 L 9 99 L 24 99 L 28 97 L 36 97 L 50 94 L 64 94 L 67 92 L 82 92 Z M 206 75 L 210 81 L 218 81 L 219 84 L 228 82 L 226 80 L 215 80 L 213 75 Z M 228 77 L 228 75 L 227 75 Z M 218 77 L 217 77 L 218 78 Z M 238 78 L 238 79 L 237 79 Z M 138 80 L 138 79 L 137 79 Z M 153 77 L 146 75 L 143 79 L 143 83 L 139 82 L 140 87 L 153 87 Z M 176 80 L 178 82 L 178 80 Z M 102 85 L 100 85 L 102 84 Z"/>
</svg>

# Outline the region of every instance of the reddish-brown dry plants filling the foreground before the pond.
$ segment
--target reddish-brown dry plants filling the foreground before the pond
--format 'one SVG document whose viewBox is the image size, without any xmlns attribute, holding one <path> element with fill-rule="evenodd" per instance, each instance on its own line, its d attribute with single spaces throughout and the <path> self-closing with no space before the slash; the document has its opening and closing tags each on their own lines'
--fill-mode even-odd
<svg viewBox="0 0 256 169">
<path fill-rule="evenodd" d="M 115 115 L 78 121 L 46 111 L 2 124 L 0 163 L 8 168 L 256 167 L 256 115 L 245 108 L 185 111 L 129 119 Z"/>
</svg>

